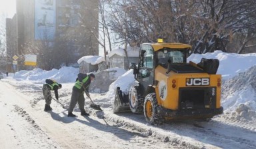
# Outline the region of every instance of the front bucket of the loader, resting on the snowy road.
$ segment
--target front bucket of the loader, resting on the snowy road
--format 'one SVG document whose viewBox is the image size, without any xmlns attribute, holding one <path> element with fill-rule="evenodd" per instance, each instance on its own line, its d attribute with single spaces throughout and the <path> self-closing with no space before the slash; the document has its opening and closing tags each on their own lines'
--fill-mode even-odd
<svg viewBox="0 0 256 149">
<path fill-rule="evenodd" d="M 113 104 L 113 112 L 131 112 L 129 106 L 129 97 L 128 94 L 125 94 L 120 90 L 120 87 L 117 87 L 115 90 L 115 100 Z"/>
</svg>

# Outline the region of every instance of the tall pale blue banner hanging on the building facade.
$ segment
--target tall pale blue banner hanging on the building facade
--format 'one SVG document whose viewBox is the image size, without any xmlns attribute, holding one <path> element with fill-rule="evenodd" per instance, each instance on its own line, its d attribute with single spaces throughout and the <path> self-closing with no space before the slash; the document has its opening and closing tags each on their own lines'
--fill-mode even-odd
<svg viewBox="0 0 256 149">
<path fill-rule="evenodd" d="M 56 0 L 35 0 L 35 40 L 53 41 L 56 29 Z"/>
</svg>

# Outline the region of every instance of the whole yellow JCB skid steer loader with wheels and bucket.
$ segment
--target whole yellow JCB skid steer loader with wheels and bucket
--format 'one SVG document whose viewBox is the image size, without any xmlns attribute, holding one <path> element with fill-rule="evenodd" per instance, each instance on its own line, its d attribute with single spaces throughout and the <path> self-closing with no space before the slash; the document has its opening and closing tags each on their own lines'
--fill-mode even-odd
<svg viewBox="0 0 256 149">
<path fill-rule="evenodd" d="M 181 118 L 212 118 L 223 113 L 217 59 L 187 63 L 190 45 L 143 43 L 139 63 L 131 65 L 138 82 L 128 94 L 116 90 L 114 112 L 143 112 L 150 124 Z"/>
</svg>

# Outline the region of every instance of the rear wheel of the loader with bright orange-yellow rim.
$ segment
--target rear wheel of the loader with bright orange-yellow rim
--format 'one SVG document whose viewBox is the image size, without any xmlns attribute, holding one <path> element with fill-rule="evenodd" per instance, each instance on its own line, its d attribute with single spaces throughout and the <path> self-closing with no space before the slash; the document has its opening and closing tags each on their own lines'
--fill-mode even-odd
<svg viewBox="0 0 256 149">
<path fill-rule="evenodd" d="M 157 113 L 157 98 L 155 93 L 147 94 L 144 101 L 144 116 L 149 124 L 163 124 L 163 118 Z"/>
</svg>

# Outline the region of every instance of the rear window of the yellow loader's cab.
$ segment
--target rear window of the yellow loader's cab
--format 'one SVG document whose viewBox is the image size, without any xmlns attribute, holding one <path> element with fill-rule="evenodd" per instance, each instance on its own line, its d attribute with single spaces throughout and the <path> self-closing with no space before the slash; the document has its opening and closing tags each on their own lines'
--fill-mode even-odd
<svg viewBox="0 0 256 149">
<path fill-rule="evenodd" d="M 157 51 L 157 64 L 167 68 L 168 61 L 171 64 L 187 63 L 188 51 L 185 49 L 164 48 Z"/>
</svg>

